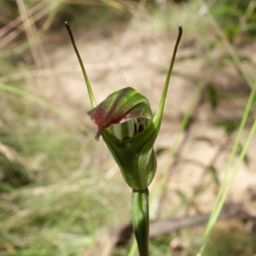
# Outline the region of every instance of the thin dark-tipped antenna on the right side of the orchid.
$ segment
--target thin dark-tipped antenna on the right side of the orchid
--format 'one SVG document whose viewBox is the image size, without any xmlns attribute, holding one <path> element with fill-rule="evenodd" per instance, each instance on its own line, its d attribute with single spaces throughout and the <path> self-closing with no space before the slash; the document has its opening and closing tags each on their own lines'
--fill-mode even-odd
<svg viewBox="0 0 256 256">
<path fill-rule="evenodd" d="M 165 103 L 165 99 L 166 99 L 166 95 L 167 95 L 167 91 L 168 91 L 170 77 L 172 75 L 172 68 L 173 68 L 173 65 L 174 65 L 175 56 L 176 56 L 177 49 L 178 49 L 178 46 L 179 46 L 180 38 L 182 36 L 182 26 L 179 24 L 178 28 L 179 28 L 179 35 L 177 37 L 176 44 L 175 44 L 175 47 L 174 47 L 174 50 L 173 50 L 172 61 L 170 63 L 170 68 L 168 70 L 168 74 L 167 74 L 166 81 L 165 81 L 165 84 L 164 84 L 164 90 L 163 90 L 162 97 L 161 97 L 161 100 L 160 100 L 160 103 L 159 103 L 159 107 L 158 107 L 157 113 L 156 113 L 156 115 L 154 116 L 154 119 L 153 119 L 154 124 L 156 124 L 156 129 L 160 129 L 161 120 L 162 120 L 162 116 L 163 116 L 163 110 L 164 110 L 164 103 Z"/>
</svg>

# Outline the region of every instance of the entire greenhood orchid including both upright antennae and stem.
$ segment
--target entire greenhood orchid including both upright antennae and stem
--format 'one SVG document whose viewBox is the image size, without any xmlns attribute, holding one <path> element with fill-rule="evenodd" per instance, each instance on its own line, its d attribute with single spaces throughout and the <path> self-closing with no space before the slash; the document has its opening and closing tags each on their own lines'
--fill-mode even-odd
<svg viewBox="0 0 256 256">
<path fill-rule="evenodd" d="M 106 147 L 118 164 L 125 182 L 132 188 L 134 234 L 140 256 L 148 256 L 148 186 L 154 178 L 157 166 L 153 147 L 163 118 L 164 102 L 175 55 L 182 36 L 182 28 L 179 25 L 179 36 L 173 51 L 163 94 L 157 113 L 153 118 L 147 98 L 130 87 L 112 93 L 97 106 L 72 32 L 67 22 L 65 25 L 83 70 L 92 104 L 92 110 L 88 111 L 88 115 L 99 127 L 95 138 L 99 140 L 99 137 L 102 136 Z"/>
</svg>

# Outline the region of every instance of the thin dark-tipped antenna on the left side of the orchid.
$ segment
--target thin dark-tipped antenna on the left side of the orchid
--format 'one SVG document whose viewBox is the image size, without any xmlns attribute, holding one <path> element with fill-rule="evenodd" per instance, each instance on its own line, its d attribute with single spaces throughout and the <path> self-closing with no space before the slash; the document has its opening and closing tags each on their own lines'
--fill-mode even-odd
<svg viewBox="0 0 256 256">
<path fill-rule="evenodd" d="M 72 34 L 72 31 L 71 31 L 70 26 L 68 25 L 68 22 L 67 22 L 67 21 L 65 22 L 65 26 L 66 26 L 66 28 L 67 28 L 68 35 L 69 35 L 69 37 L 70 37 L 70 40 L 71 40 L 72 45 L 73 45 L 73 47 L 74 47 L 74 50 L 75 50 L 75 52 L 76 52 L 76 56 L 77 56 L 77 58 L 78 58 L 78 60 L 79 60 L 80 66 L 81 66 L 82 71 L 83 71 L 84 81 L 85 81 L 86 86 L 87 86 L 87 90 L 88 90 L 88 93 L 89 93 L 89 97 L 90 97 L 90 102 L 91 102 L 92 108 L 95 108 L 97 105 L 96 105 L 96 102 L 95 102 L 95 98 L 94 98 L 94 96 L 93 96 L 92 87 L 91 87 L 91 84 L 90 84 L 90 82 L 89 82 L 89 79 L 88 79 L 88 76 L 87 76 L 87 74 L 86 74 L 86 71 L 85 71 L 85 69 L 84 69 L 84 65 L 83 65 L 83 61 L 82 61 L 82 59 L 81 59 L 81 56 L 80 56 L 80 54 L 79 54 L 79 52 L 78 52 L 78 50 L 77 50 L 76 43 L 75 43 L 75 40 L 74 40 L 74 36 L 73 36 L 73 34 Z"/>
</svg>

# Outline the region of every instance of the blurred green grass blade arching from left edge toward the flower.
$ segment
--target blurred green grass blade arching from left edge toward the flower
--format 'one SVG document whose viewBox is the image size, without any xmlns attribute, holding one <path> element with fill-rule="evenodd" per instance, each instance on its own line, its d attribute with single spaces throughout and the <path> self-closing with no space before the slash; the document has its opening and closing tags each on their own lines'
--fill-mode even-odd
<svg viewBox="0 0 256 256">
<path fill-rule="evenodd" d="M 39 97 L 36 97 L 32 93 L 25 92 L 24 90 L 17 89 L 13 86 L 2 84 L 0 83 L 0 89 L 4 90 L 6 92 L 13 93 L 15 95 L 18 95 L 20 97 L 24 97 L 26 99 L 29 99 L 33 102 L 36 102 L 37 104 L 44 106 L 47 109 L 50 109 L 54 113 L 57 113 L 58 115 L 62 116 L 63 118 L 67 119 L 69 122 L 74 124 L 79 130 L 83 131 L 85 134 L 90 136 L 91 138 L 94 138 L 94 134 L 92 131 L 90 131 L 85 125 L 83 125 L 81 122 L 76 120 L 76 118 L 72 118 L 71 116 L 68 116 L 64 111 L 62 111 L 60 108 L 57 108 L 56 106 L 52 105 L 51 103 L 40 99 Z"/>
</svg>

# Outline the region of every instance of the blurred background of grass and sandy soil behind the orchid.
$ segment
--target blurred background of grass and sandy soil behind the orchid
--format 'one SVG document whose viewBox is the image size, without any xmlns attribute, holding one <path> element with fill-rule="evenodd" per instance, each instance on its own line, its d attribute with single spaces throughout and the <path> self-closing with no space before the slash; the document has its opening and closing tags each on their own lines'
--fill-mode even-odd
<svg viewBox="0 0 256 256">
<path fill-rule="evenodd" d="M 155 147 L 150 252 L 196 255 L 255 81 L 256 1 L 1 0 L 0 256 L 131 253 L 131 189 L 94 140 L 65 21 L 97 103 L 131 86 L 154 113 L 182 24 Z M 255 111 L 256 99 L 237 154 Z M 204 255 L 256 254 L 250 142 Z"/>
</svg>

